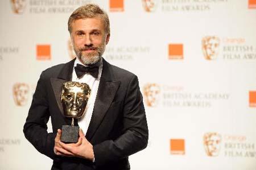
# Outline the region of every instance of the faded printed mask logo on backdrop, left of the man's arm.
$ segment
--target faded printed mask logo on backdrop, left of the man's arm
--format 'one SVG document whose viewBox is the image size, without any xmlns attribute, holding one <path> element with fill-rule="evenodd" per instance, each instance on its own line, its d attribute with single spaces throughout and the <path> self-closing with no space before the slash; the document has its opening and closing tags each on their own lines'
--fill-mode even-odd
<svg viewBox="0 0 256 170">
<path fill-rule="evenodd" d="M 24 106 L 27 103 L 29 87 L 25 83 L 16 83 L 13 86 L 14 102 L 18 106 Z"/>
</svg>

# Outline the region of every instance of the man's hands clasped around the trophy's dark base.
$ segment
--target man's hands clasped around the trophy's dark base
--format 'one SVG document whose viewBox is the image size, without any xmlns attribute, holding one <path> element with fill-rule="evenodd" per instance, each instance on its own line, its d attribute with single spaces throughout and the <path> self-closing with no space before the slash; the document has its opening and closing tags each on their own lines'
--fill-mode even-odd
<svg viewBox="0 0 256 170">
<path fill-rule="evenodd" d="M 58 129 L 55 138 L 54 152 L 56 155 L 68 157 L 82 157 L 84 159 L 94 159 L 93 146 L 85 138 L 82 130 L 79 130 L 79 141 L 77 143 L 65 144 L 60 141 L 61 130 Z"/>
</svg>

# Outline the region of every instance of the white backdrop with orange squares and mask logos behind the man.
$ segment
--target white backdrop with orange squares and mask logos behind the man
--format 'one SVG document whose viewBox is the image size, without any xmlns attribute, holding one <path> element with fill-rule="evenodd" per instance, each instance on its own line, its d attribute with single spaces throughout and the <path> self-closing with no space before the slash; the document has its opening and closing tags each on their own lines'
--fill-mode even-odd
<svg viewBox="0 0 256 170">
<path fill-rule="evenodd" d="M 40 73 L 73 59 L 68 18 L 89 2 L 109 14 L 104 58 L 143 93 L 149 143 L 131 169 L 256 169 L 255 0 L 0 1 L 0 169 L 51 168 L 23 125 Z"/>
</svg>

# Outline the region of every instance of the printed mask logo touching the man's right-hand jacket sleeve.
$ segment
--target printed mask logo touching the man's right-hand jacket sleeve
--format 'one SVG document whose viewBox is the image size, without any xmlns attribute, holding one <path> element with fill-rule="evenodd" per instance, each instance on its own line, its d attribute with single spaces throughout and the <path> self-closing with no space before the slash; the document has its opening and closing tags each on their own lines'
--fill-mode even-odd
<svg viewBox="0 0 256 170">
<path fill-rule="evenodd" d="M 155 107 L 159 102 L 160 87 L 157 84 L 147 84 L 143 88 L 143 94 L 146 98 L 146 104 Z"/>
</svg>

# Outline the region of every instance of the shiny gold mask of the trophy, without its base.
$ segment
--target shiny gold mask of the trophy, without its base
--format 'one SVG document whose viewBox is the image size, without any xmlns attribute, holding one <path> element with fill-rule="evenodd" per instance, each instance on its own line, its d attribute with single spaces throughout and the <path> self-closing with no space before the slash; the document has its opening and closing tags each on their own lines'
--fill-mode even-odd
<svg viewBox="0 0 256 170">
<path fill-rule="evenodd" d="M 65 117 L 80 118 L 84 114 L 90 87 L 82 82 L 68 81 L 63 84 L 61 102 Z"/>
</svg>

